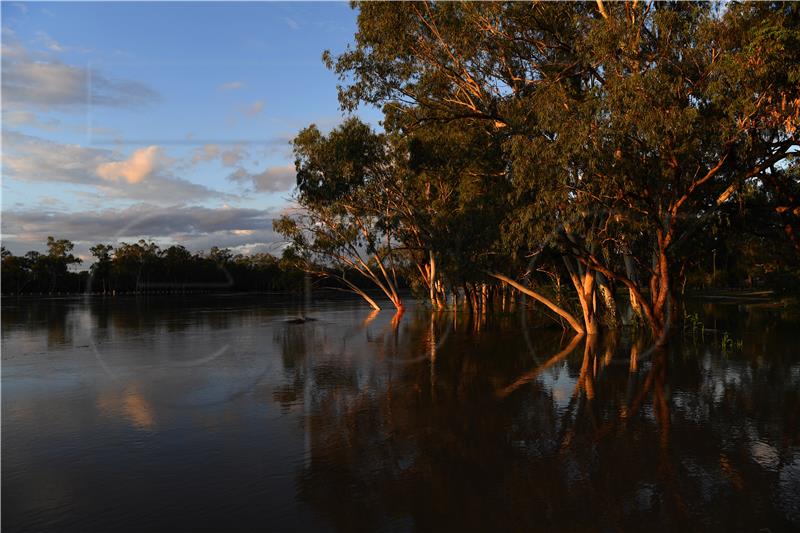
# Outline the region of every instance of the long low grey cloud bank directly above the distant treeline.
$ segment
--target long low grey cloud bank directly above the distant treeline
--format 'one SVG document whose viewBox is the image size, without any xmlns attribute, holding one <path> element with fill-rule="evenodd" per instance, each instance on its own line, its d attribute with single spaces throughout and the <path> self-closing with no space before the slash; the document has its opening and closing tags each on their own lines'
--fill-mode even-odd
<svg viewBox="0 0 800 533">
<path fill-rule="evenodd" d="M 118 244 L 139 238 L 182 244 L 195 251 L 211 246 L 264 250 L 282 240 L 272 230 L 273 217 L 271 210 L 227 206 L 138 204 L 73 213 L 10 210 L 3 214 L 2 233 L 3 244 L 17 254 L 43 248 L 48 235 L 75 241 L 79 253 L 98 242 Z"/>
</svg>

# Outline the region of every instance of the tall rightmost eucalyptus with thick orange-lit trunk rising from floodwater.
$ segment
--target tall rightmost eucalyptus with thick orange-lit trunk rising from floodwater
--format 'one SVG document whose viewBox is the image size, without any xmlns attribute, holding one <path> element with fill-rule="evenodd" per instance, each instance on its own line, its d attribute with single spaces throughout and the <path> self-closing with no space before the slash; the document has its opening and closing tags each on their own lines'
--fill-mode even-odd
<svg viewBox="0 0 800 533">
<path fill-rule="evenodd" d="M 598 237 L 646 276 L 586 247 L 575 256 L 628 287 L 663 342 L 685 240 L 797 144 L 800 10 L 613 4 L 581 46 L 588 89 L 551 117 L 586 125 L 575 187 L 608 206 Z"/>
</svg>

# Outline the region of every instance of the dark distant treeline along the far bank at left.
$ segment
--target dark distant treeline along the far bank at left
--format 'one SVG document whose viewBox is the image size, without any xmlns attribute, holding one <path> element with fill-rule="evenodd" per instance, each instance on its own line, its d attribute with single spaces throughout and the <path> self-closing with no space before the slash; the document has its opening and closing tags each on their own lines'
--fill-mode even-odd
<svg viewBox="0 0 800 533">
<path fill-rule="evenodd" d="M 2 249 L 2 292 L 125 293 L 196 291 L 297 291 L 305 274 L 268 253 L 234 255 L 225 248 L 192 253 L 183 246 L 153 242 L 91 248 L 94 263 L 83 271 L 69 240 L 48 237 L 47 252 L 15 256 Z"/>
</svg>

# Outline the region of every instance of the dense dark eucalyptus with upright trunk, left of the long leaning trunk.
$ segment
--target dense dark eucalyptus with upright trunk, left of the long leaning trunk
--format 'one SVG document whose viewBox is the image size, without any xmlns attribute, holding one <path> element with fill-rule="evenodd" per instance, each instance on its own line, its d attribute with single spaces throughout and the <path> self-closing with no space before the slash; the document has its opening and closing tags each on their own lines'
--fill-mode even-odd
<svg viewBox="0 0 800 533">
<path fill-rule="evenodd" d="M 447 292 L 463 288 L 466 296 L 485 286 L 485 271 L 497 266 L 507 193 L 496 179 L 504 173 L 500 147 L 480 128 L 446 124 L 399 128 L 393 137 L 408 159 L 397 202 L 401 240 L 409 248 L 418 243 L 420 278 L 431 304 L 441 307 Z"/>
</svg>

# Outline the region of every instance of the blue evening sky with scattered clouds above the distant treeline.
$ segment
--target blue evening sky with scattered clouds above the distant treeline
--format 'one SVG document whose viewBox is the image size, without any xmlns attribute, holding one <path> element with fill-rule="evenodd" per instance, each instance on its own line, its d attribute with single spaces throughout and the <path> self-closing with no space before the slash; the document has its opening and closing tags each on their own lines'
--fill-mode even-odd
<svg viewBox="0 0 800 533">
<path fill-rule="evenodd" d="M 2 242 L 280 251 L 290 140 L 344 115 L 344 2 L 3 2 Z M 374 108 L 360 109 L 379 127 Z"/>
</svg>

